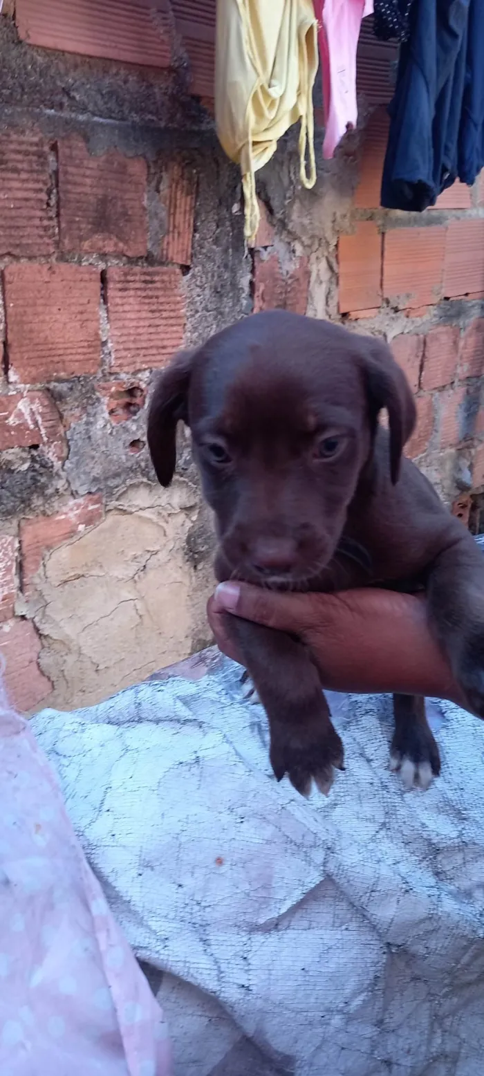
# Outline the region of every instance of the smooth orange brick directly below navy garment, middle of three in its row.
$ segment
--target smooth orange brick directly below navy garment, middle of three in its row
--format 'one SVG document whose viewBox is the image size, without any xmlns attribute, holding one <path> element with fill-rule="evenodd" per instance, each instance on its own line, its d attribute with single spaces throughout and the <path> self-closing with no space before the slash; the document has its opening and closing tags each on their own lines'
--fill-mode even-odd
<svg viewBox="0 0 484 1076">
<path fill-rule="evenodd" d="M 442 297 L 445 228 L 394 228 L 383 243 L 383 294 L 399 307 Z"/>
</svg>

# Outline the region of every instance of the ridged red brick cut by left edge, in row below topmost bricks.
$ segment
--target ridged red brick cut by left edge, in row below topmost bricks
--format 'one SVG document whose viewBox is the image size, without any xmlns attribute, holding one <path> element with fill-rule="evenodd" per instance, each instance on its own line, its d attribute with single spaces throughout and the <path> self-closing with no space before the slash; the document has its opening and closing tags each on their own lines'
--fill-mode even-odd
<svg viewBox="0 0 484 1076">
<path fill-rule="evenodd" d="M 53 254 L 55 218 L 49 203 L 48 145 L 34 130 L 0 134 L 0 254 Z"/>
</svg>

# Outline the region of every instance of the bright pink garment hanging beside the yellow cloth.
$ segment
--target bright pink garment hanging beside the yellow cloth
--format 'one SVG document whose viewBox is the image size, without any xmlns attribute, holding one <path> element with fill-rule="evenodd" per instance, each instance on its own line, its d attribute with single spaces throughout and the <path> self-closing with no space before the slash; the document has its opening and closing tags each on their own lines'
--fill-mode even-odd
<svg viewBox="0 0 484 1076">
<path fill-rule="evenodd" d="M 323 70 L 323 156 L 328 158 L 346 129 L 356 127 L 356 49 L 361 19 L 373 14 L 373 0 L 314 0 L 314 12 Z"/>
</svg>

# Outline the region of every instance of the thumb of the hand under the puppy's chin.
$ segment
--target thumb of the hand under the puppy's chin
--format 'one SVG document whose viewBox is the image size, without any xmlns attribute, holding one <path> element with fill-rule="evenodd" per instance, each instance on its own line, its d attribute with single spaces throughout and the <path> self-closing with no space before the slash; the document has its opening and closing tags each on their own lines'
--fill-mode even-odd
<svg viewBox="0 0 484 1076">
<path fill-rule="evenodd" d="M 312 624 L 308 594 L 267 591 L 248 583 L 219 583 L 213 596 L 214 612 L 230 612 L 242 620 L 281 632 L 304 632 Z"/>
</svg>

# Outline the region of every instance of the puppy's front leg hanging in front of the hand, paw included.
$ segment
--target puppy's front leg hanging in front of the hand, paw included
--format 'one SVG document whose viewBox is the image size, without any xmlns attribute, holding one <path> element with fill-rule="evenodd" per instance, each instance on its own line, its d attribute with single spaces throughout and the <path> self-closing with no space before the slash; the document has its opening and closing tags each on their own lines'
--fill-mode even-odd
<svg viewBox="0 0 484 1076">
<path fill-rule="evenodd" d="M 328 794 L 333 767 L 344 769 L 343 745 L 333 728 L 316 666 L 285 632 L 227 617 L 269 720 L 270 760 L 277 781 L 284 774 L 303 796 Z"/>
</svg>

